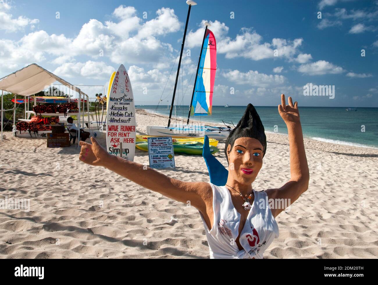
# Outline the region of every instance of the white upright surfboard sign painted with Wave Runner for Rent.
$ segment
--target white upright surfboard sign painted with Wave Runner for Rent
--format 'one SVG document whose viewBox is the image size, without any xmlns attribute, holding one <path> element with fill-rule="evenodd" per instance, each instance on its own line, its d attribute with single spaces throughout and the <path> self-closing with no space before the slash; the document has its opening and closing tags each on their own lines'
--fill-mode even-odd
<svg viewBox="0 0 378 285">
<path fill-rule="evenodd" d="M 110 154 L 133 161 L 135 154 L 135 102 L 124 65 L 115 73 L 107 99 L 106 147 Z"/>
</svg>

